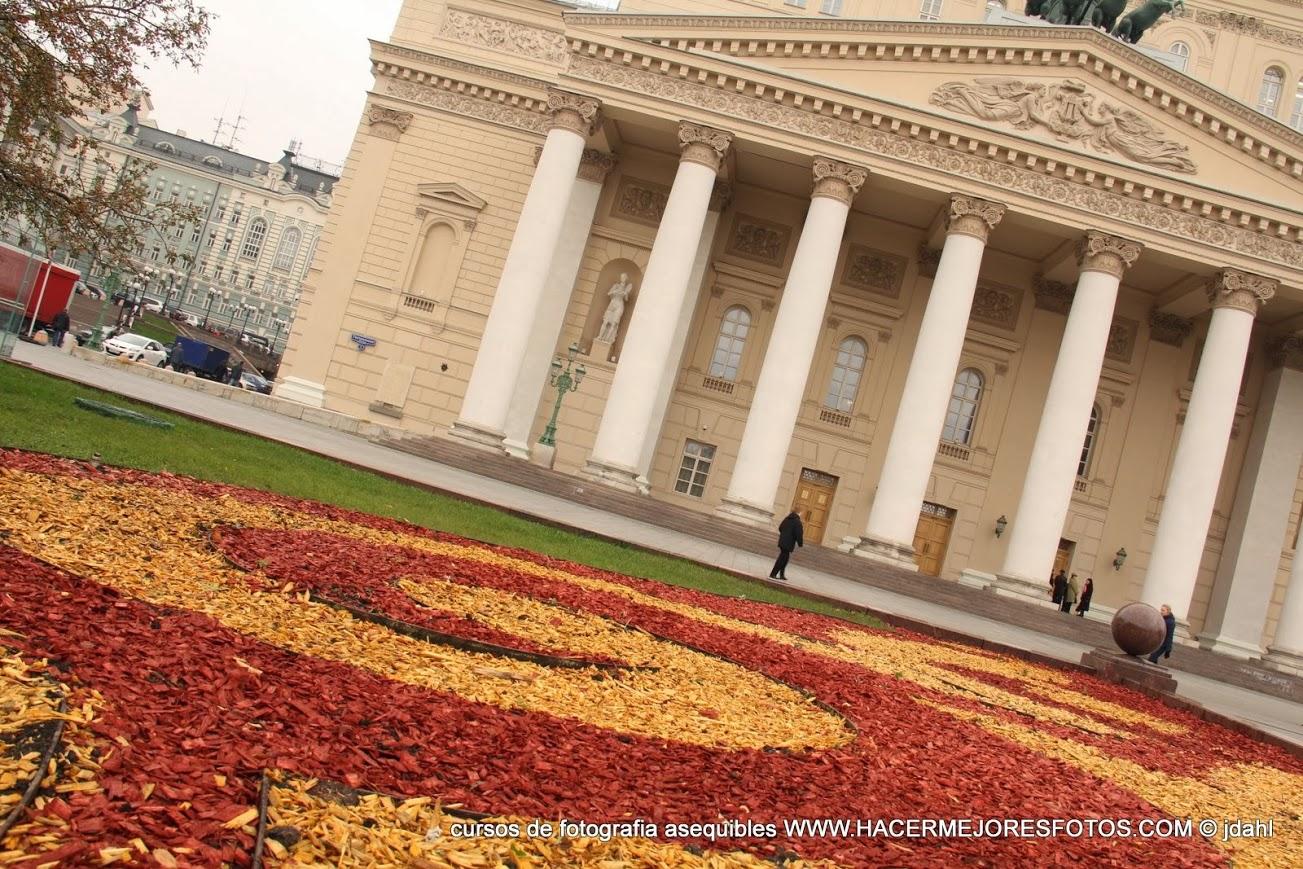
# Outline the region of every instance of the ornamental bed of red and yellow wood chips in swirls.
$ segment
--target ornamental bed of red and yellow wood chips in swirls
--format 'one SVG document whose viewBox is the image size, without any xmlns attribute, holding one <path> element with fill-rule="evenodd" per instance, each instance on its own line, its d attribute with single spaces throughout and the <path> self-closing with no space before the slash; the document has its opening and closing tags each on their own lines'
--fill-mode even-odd
<svg viewBox="0 0 1303 869">
<path fill-rule="evenodd" d="M 167 474 L 0 451 L 0 629 L 85 722 L 0 864 L 246 864 L 265 773 L 270 864 L 1303 861 L 1299 762 L 1088 676 Z M 863 825 L 787 826 L 820 818 Z M 907 818 L 1274 829 L 874 826 Z"/>
</svg>

